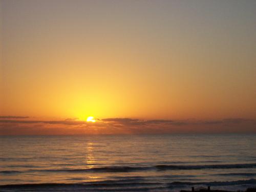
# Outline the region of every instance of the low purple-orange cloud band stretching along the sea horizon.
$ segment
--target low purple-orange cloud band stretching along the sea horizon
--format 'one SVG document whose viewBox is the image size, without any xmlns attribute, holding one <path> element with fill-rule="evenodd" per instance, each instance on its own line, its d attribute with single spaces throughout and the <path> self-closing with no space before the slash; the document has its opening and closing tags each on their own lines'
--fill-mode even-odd
<svg viewBox="0 0 256 192">
<path fill-rule="evenodd" d="M 105 118 L 95 123 L 65 120 L 0 119 L 0 135 L 256 133 L 256 121 Z"/>
</svg>

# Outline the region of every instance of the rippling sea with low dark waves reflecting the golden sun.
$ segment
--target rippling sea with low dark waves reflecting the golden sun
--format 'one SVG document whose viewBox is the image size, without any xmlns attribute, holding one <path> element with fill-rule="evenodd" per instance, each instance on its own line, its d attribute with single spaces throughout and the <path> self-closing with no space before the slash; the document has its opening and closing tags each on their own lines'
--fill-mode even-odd
<svg viewBox="0 0 256 192">
<path fill-rule="evenodd" d="M 256 135 L 2 136 L 0 191 L 256 186 Z"/>
</svg>

